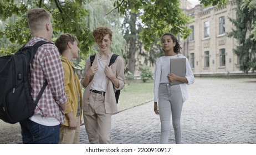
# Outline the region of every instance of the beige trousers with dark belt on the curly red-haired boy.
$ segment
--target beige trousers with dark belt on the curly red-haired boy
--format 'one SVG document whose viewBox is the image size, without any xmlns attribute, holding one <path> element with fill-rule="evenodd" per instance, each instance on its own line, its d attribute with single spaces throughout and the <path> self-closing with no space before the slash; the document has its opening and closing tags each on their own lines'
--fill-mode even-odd
<svg viewBox="0 0 256 155">
<path fill-rule="evenodd" d="M 105 96 L 91 92 L 89 109 L 83 111 L 85 130 L 91 144 L 111 143 L 111 114 L 105 112 Z"/>
</svg>

